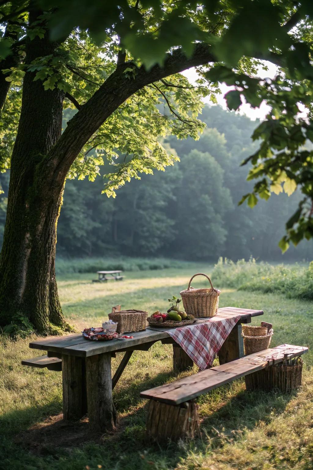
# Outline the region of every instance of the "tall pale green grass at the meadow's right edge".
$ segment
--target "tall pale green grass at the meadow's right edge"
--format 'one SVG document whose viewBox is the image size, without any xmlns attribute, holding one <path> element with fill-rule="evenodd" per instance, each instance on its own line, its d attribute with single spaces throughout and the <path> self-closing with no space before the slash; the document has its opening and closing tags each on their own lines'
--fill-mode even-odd
<svg viewBox="0 0 313 470">
<path fill-rule="evenodd" d="M 215 285 L 313 300 L 313 261 L 309 266 L 301 266 L 257 263 L 254 258 L 234 263 L 227 258 L 219 258 L 212 277 Z"/>
</svg>

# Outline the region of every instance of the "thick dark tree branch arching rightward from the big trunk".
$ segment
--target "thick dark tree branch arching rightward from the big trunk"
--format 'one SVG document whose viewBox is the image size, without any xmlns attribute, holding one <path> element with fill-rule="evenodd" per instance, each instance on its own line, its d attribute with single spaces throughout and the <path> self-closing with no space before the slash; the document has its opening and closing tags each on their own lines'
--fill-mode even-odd
<svg viewBox="0 0 313 470">
<path fill-rule="evenodd" d="M 260 59 L 271 60 L 279 65 L 279 55 L 271 54 Z M 275 59 L 275 60 L 274 60 Z M 186 57 L 181 48 L 173 50 L 166 56 L 164 65 L 155 65 L 146 70 L 144 66 L 136 70 L 134 79 L 129 79 L 123 71 L 133 63 L 120 64 L 119 67 L 99 87 L 90 98 L 68 122 L 59 141 L 47 156 L 47 164 L 54 168 L 55 181 L 52 184 L 62 185 L 84 144 L 90 139 L 100 125 L 132 94 L 146 85 L 157 82 L 162 78 L 182 72 L 191 67 L 198 67 L 207 63 L 216 62 L 211 46 L 205 43 L 196 43 L 193 54 Z M 277 62 L 276 62 L 277 61 Z"/>
</svg>

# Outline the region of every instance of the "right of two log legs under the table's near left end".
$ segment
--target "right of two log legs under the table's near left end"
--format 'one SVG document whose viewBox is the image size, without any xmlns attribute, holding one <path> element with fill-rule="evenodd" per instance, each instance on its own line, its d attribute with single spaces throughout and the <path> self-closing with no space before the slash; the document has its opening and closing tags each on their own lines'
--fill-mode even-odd
<svg viewBox="0 0 313 470">
<path fill-rule="evenodd" d="M 93 431 L 115 430 L 111 354 L 98 354 L 87 357 L 85 361 L 89 427 Z"/>
</svg>

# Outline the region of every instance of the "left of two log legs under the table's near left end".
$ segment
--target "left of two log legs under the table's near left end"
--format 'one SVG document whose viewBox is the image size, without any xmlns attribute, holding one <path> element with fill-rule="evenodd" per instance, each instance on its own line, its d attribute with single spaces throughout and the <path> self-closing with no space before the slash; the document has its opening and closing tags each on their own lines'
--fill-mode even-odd
<svg viewBox="0 0 313 470">
<path fill-rule="evenodd" d="M 62 355 L 63 419 L 76 421 L 87 413 L 85 361 Z"/>
</svg>

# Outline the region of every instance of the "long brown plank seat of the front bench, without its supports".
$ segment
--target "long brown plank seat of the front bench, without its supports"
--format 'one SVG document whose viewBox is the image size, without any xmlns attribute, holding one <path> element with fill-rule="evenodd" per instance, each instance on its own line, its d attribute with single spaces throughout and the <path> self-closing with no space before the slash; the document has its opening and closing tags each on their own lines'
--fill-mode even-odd
<svg viewBox="0 0 313 470">
<path fill-rule="evenodd" d="M 203 370 L 198 374 L 184 377 L 170 384 L 146 390 L 141 392 L 140 396 L 170 405 L 179 405 L 220 385 L 261 370 L 267 367 L 267 365 L 282 362 L 284 359 L 291 359 L 307 351 L 308 348 L 304 346 L 281 345 L 277 348 L 270 348 L 241 359 L 233 360 L 218 367 Z"/>
</svg>

